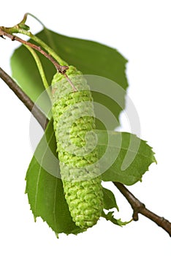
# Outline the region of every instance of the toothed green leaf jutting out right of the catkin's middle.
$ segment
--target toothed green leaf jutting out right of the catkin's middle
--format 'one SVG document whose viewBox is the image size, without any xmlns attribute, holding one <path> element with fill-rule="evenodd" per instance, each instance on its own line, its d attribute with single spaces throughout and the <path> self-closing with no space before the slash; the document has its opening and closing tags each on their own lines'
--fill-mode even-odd
<svg viewBox="0 0 171 256">
<path fill-rule="evenodd" d="M 129 132 L 96 131 L 99 156 L 105 155 L 104 166 L 113 164 L 102 174 L 103 181 L 118 181 L 132 185 L 142 180 L 149 165 L 156 162 L 151 146 Z"/>
</svg>

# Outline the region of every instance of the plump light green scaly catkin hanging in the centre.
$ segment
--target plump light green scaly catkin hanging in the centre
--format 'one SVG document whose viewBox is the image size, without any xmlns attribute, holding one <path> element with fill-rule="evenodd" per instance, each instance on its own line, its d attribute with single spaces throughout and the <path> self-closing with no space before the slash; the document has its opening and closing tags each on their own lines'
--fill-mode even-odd
<svg viewBox="0 0 171 256">
<path fill-rule="evenodd" d="M 52 113 L 64 195 L 75 224 L 83 229 L 102 214 L 103 193 L 99 175 L 95 118 L 91 91 L 81 72 L 69 66 L 52 81 Z"/>
</svg>

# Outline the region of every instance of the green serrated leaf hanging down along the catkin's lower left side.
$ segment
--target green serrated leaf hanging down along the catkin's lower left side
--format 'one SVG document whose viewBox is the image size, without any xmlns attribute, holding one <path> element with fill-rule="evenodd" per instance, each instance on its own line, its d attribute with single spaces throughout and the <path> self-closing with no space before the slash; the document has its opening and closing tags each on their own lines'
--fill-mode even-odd
<svg viewBox="0 0 171 256">
<path fill-rule="evenodd" d="M 83 230 L 77 227 L 75 222 L 72 221 L 68 205 L 64 198 L 62 181 L 60 178 L 56 177 L 59 171 L 58 162 L 53 166 L 53 174 L 55 175 L 54 170 L 56 170 L 56 176 L 47 173 L 41 166 L 44 165 L 43 162 L 46 162 L 47 165 L 51 165 L 50 161 L 48 161 L 50 154 L 47 145 L 50 145 L 50 150 L 54 153 L 56 151 L 52 127 L 52 121 L 50 121 L 45 135 L 37 146 L 37 150 L 28 167 L 26 174 L 28 202 L 30 203 L 34 218 L 42 217 L 56 234 L 77 234 L 83 232 Z M 41 162 L 41 156 L 43 162 Z M 51 167 L 52 166 L 50 166 L 50 168 Z"/>
</svg>

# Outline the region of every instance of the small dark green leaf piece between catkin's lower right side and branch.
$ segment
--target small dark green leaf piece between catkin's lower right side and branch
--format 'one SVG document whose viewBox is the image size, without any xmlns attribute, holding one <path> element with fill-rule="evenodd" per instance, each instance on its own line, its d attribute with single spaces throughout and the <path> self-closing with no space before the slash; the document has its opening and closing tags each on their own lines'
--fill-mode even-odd
<svg viewBox="0 0 171 256">
<path fill-rule="evenodd" d="M 109 189 L 103 188 L 103 198 L 104 198 L 104 209 L 112 209 L 116 208 L 118 211 L 118 206 L 115 200 L 115 196 L 113 195 L 113 192 Z"/>
</svg>

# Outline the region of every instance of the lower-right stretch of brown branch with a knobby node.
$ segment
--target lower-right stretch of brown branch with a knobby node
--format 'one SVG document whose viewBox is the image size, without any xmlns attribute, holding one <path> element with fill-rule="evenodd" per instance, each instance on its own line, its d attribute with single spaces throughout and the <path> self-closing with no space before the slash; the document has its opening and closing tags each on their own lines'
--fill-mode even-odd
<svg viewBox="0 0 171 256">
<path fill-rule="evenodd" d="M 156 223 L 159 227 L 162 227 L 170 236 L 171 236 L 171 222 L 164 217 L 159 217 L 158 215 L 154 214 L 152 211 L 149 211 L 144 203 L 141 203 L 134 195 L 127 189 L 123 184 L 119 182 L 113 182 L 115 187 L 122 193 L 126 200 L 130 203 L 133 209 L 133 216 L 132 218 L 134 221 L 138 220 L 138 214 L 142 214 L 143 216 L 151 219 L 153 222 Z"/>
</svg>

